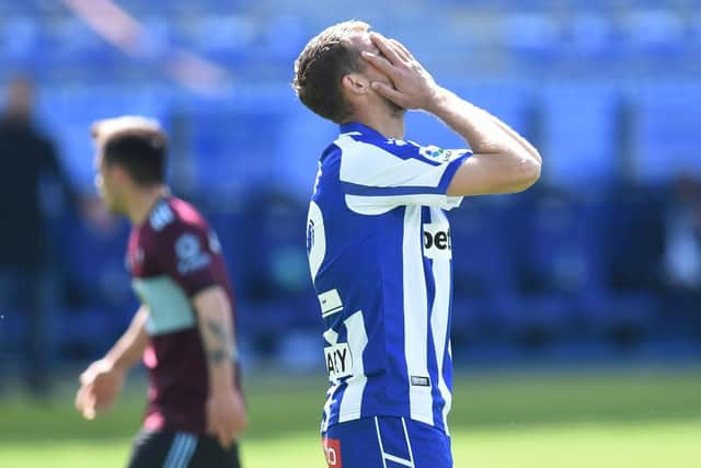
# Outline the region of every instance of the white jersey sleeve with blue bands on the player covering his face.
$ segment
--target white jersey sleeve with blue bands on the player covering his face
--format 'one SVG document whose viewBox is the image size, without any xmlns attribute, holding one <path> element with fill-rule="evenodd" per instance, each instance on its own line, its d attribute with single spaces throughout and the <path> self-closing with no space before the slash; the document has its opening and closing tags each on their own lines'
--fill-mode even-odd
<svg viewBox="0 0 701 468">
<path fill-rule="evenodd" d="M 346 141 L 342 148 L 341 184 L 348 207 L 380 214 L 402 205 L 451 209 L 462 197 L 448 196 L 448 185 L 472 152 L 388 139 Z"/>
</svg>

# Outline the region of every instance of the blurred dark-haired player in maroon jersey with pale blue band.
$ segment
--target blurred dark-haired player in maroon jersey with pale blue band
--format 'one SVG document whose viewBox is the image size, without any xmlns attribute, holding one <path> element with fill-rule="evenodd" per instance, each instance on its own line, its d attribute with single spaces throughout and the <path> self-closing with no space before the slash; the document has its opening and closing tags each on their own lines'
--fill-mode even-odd
<svg viewBox="0 0 701 468">
<path fill-rule="evenodd" d="M 127 266 L 141 307 L 107 354 L 81 374 L 76 406 L 94 419 L 142 358 L 148 406 L 129 467 L 239 467 L 235 438 L 245 408 L 233 296 L 217 236 L 193 206 L 170 194 L 166 137 L 157 122 L 101 121 L 93 138 L 100 195 L 134 226 Z"/>
</svg>

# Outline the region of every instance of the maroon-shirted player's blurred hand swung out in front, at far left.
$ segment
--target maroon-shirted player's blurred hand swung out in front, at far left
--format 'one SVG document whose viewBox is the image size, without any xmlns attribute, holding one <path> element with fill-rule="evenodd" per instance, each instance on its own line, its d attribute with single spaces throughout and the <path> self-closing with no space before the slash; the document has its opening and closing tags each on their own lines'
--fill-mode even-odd
<svg viewBox="0 0 701 468">
<path fill-rule="evenodd" d="M 76 408 L 83 418 L 95 419 L 110 409 L 124 385 L 124 370 L 105 361 L 95 361 L 80 375 Z"/>
</svg>

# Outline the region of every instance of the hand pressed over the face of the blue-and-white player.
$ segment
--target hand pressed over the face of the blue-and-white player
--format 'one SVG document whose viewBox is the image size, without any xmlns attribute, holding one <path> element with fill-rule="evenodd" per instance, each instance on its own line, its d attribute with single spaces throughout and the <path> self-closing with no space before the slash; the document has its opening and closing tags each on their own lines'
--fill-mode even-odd
<svg viewBox="0 0 701 468">
<path fill-rule="evenodd" d="M 401 107 L 429 110 L 439 90 L 430 73 L 399 41 L 388 39 L 378 33 L 370 33 L 370 39 L 382 56 L 363 52 L 363 58 L 394 84 L 392 88 L 374 81 L 372 89 Z"/>
</svg>

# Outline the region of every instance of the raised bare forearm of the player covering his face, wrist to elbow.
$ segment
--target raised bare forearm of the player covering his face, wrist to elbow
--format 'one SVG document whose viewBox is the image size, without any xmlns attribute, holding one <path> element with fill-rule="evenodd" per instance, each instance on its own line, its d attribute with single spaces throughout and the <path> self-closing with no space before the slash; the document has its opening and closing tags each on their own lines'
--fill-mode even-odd
<svg viewBox="0 0 701 468">
<path fill-rule="evenodd" d="M 437 91 L 427 111 L 462 136 L 475 153 L 527 156 L 530 159 L 538 152 L 504 122 L 446 89 Z"/>
</svg>

